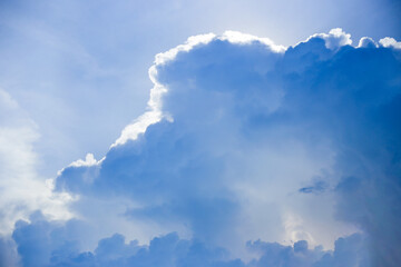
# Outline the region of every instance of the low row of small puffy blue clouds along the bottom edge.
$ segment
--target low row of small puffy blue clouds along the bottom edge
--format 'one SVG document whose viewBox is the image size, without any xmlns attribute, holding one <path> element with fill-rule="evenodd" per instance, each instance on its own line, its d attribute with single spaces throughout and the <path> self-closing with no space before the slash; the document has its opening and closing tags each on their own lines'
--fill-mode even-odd
<svg viewBox="0 0 401 267">
<path fill-rule="evenodd" d="M 22 266 L 369 266 L 363 249 L 365 237 L 360 234 L 338 239 L 331 251 L 309 248 L 305 240 L 292 246 L 250 241 L 247 249 L 257 255 L 257 259 L 245 263 L 229 257 L 224 248 L 211 247 L 198 239 L 182 239 L 176 233 L 155 237 L 143 246 L 136 240 L 127 243 L 124 236 L 115 234 L 99 240 L 94 251 L 82 251 L 75 230 L 79 221 L 61 225 L 43 220 L 40 214 L 35 217 L 30 224 L 19 221 L 13 234 Z"/>
</svg>

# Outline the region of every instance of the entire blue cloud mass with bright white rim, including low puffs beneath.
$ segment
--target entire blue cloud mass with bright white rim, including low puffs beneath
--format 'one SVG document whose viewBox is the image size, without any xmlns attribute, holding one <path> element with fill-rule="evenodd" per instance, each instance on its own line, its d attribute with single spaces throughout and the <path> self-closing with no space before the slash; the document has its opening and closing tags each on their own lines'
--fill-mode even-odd
<svg viewBox="0 0 401 267">
<path fill-rule="evenodd" d="M 395 266 L 400 50 L 351 43 L 227 32 L 158 55 L 149 109 L 57 177 L 76 219 L 16 225 L 20 263 Z"/>
</svg>

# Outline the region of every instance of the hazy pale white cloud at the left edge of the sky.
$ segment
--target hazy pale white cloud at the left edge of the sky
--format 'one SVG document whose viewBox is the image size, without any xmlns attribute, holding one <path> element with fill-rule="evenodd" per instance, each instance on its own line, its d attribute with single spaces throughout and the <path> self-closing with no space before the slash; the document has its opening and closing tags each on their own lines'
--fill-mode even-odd
<svg viewBox="0 0 401 267">
<path fill-rule="evenodd" d="M 28 219 L 36 209 L 49 218 L 70 218 L 65 209 L 68 194 L 52 192 L 37 174 L 37 126 L 4 90 L 0 90 L 0 234 L 10 234 L 18 219 Z"/>
</svg>

